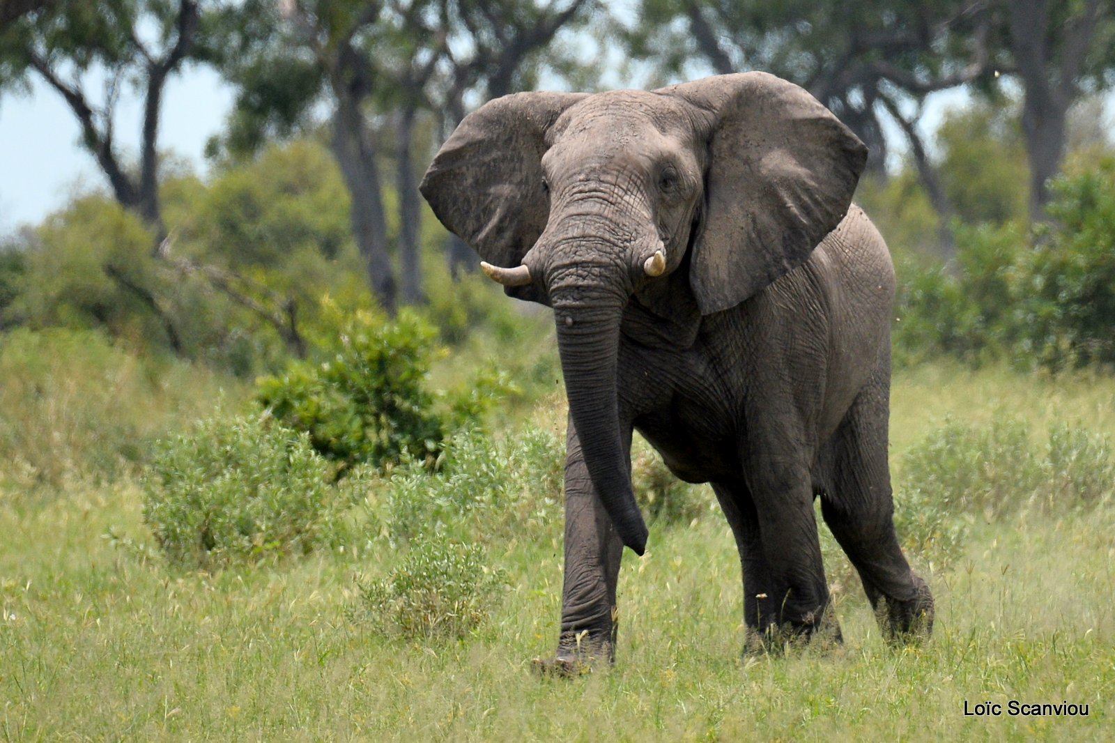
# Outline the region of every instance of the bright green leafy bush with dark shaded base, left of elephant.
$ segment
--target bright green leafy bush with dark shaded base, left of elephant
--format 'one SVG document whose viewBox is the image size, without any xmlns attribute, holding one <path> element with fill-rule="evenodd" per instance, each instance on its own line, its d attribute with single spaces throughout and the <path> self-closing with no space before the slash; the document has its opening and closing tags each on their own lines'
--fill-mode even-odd
<svg viewBox="0 0 1115 743">
<path fill-rule="evenodd" d="M 392 321 L 357 312 L 323 361 L 292 361 L 259 380 L 259 401 L 314 450 L 349 465 L 436 457 L 446 423 L 426 387 L 434 330 L 404 310 Z"/>
</svg>

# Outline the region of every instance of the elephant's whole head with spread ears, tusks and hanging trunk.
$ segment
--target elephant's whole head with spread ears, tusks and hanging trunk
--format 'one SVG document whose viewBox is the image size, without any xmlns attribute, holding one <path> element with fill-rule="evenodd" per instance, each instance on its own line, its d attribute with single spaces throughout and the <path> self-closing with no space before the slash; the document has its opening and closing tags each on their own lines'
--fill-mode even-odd
<svg viewBox="0 0 1115 743">
<path fill-rule="evenodd" d="M 647 527 L 617 403 L 624 308 L 632 297 L 660 303 L 665 282 L 695 315 L 753 297 L 840 223 L 865 160 L 805 90 L 745 73 L 655 91 L 505 96 L 467 116 L 429 166 L 423 194 L 485 272 L 554 308 L 585 464 L 637 553 Z"/>
</svg>

